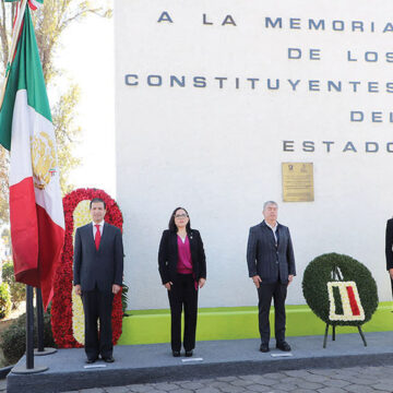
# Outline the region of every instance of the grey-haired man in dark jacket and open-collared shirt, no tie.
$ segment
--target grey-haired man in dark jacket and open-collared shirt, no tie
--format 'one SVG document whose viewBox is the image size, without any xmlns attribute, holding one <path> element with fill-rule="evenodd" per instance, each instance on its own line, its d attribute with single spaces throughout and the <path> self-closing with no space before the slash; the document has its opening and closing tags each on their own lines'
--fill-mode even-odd
<svg viewBox="0 0 393 393">
<path fill-rule="evenodd" d="M 278 206 L 267 201 L 263 205 L 264 221 L 250 228 L 247 246 L 249 276 L 258 289 L 260 350 L 269 352 L 269 313 L 274 299 L 276 348 L 289 352 L 285 341 L 285 298 L 287 286 L 296 275 L 294 249 L 289 229 L 277 223 Z"/>
</svg>

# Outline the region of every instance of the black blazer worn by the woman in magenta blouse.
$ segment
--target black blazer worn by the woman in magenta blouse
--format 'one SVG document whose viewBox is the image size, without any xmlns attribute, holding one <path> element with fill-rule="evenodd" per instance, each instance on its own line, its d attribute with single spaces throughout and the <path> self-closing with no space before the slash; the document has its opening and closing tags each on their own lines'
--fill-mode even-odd
<svg viewBox="0 0 393 393">
<path fill-rule="evenodd" d="M 206 278 L 206 258 L 200 233 L 191 229 L 188 233 L 191 250 L 192 270 L 195 279 Z M 163 284 L 172 282 L 177 275 L 178 245 L 177 234 L 164 230 L 158 250 L 158 271 Z"/>
</svg>

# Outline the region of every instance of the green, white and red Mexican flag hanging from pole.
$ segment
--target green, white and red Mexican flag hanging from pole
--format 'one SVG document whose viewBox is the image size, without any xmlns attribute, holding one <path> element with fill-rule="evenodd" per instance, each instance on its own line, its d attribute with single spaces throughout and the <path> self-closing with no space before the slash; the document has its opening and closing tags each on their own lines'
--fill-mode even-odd
<svg viewBox="0 0 393 393">
<path fill-rule="evenodd" d="M 47 307 L 63 246 L 64 215 L 55 130 L 28 7 L 8 78 L 0 109 L 0 143 L 11 152 L 15 278 L 39 287 Z"/>
</svg>

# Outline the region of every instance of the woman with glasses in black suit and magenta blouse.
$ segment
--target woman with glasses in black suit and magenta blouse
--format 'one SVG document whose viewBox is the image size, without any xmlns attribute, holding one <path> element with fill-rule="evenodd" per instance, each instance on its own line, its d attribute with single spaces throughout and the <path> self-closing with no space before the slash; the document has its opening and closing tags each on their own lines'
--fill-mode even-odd
<svg viewBox="0 0 393 393">
<path fill-rule="evenodd" d="M 158 251 L 158 271 L 168 290 L 172 355 L 180 356 L 181 310 L 184 308 L 186 356 L 195 347 L 198 289 L 206 282 L 206 259 L 201 235 L 191 229 L 190 217 L 183 207 L 175 209 L 164 230 Z"/>
</svg>

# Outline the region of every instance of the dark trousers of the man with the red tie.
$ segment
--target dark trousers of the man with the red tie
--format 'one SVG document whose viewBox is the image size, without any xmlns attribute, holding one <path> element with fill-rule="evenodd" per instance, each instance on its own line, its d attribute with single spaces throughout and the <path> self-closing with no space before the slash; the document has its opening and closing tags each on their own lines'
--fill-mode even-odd
<svg viewBox="0 0 393 393">
<path fill-rule="evenodd" d="M 93 290 L 82 291 L 83 310 L 85 314 L 85 353 L 87 359 L 112 356 L 111 310 L 114 294 Z M 99 320 L 99 334 L 97 321 Z"/>
</svg>

